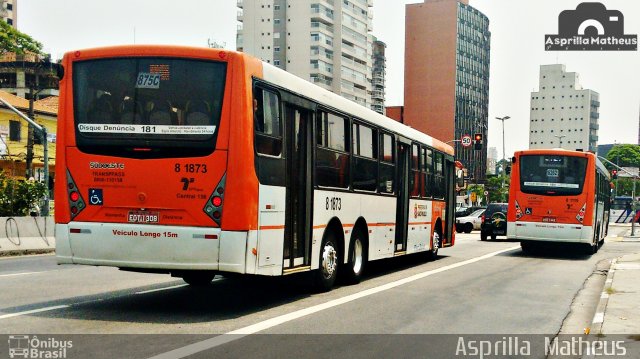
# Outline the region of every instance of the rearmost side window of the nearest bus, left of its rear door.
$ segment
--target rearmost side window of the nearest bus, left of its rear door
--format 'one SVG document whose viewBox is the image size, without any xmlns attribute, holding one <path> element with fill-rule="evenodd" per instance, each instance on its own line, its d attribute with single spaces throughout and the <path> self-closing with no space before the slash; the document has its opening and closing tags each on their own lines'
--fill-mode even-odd
<svg viewBox="0 0 640 359">
<path fill-rule="evenodd" d="M 256 88 L 253 99 L 256 151 L 279 157 L 282 154 L 280 99 L 275 92 Z"/>
</svg>

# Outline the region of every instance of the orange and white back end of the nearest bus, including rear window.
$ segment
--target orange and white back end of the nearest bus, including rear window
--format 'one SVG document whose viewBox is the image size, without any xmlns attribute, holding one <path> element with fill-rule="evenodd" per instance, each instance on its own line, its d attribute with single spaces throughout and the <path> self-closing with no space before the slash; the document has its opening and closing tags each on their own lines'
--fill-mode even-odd
<svg viewBox="0 0 640 359">
<path fill-rule="evenodd" d="M 253 132 L 243 89 L 261 69 L 245 61 L 253 60 L 159 46 L 65 55 L 59 263 L 179 276 L 245 270 L 257 179 L 253 144 L 234 140 L 250 136 L 234 133 Z"/>
</svg>

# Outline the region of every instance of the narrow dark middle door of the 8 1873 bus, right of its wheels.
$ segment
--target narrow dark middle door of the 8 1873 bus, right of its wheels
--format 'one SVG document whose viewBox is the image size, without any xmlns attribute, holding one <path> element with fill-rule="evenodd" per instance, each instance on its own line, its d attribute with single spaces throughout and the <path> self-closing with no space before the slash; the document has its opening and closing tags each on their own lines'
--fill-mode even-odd
<svg viewBox="0 0 640 359">
<path fill-rule="evenodd" d="M 396 242 L 394 252 L 407 250 L 407 229 L 409 227 L 409 165 L 411 145 L 398 139 L 398 203 L 396 207 Z"/>
</svg>

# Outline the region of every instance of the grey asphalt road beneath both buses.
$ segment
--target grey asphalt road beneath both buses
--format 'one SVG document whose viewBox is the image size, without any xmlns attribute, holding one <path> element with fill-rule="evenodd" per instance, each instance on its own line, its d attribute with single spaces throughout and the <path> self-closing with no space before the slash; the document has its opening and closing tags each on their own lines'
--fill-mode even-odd
<svg viewBox="0 0 640 359">
<path fill-rule="evenodd" d="M 425 357 L 434 348 L 428 357 L 452 357 L 460 334 L 579 334 L 602 287 L 582 289 L 604 278 L 608 259 L 633 252 L 639 243 L 609 240 L 593 256 L 525 255 L 516 242 L 458 234 L 435 261 L 371 263 L 362 283 L 321 294 L 304 275 L 216 277 L 191 288 L 168 275 L 58 266 L 50 255 L 4 258 L 0 333 L 72 338 L 68 358 Z"/>
</svg>

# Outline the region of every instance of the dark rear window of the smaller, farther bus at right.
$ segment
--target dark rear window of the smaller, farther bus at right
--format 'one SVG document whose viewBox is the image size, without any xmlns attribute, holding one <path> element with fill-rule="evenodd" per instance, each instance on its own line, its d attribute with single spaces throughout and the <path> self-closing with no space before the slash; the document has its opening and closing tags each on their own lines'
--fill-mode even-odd
<svg viewBox="0 0 640 359">
<path fill-rule="evenodd" d="M 587 171 L 584 157 L 529 155 L 520 157 L 520 190 L 530 194 L 582 193 Z"/>
</svg>

